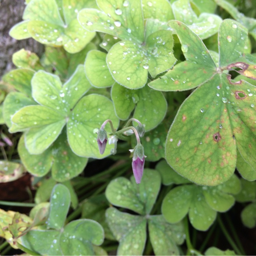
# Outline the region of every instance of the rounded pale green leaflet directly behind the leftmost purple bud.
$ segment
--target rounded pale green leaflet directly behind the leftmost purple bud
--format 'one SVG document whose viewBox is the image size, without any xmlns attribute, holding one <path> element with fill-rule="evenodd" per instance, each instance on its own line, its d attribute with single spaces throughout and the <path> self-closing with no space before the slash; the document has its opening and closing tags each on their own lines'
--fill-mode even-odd
<svg viewBox="0 0 256 256">
<path fill-rule="evenodd" d="M 75 106 L 67 122 L 68 142 L 72 151 L 82 157 L 102 158 L 110 155 L 112 146 L 107 146 L 105 153 L 100 155 L 97 145 L 95 128 L 99 128 L 106 120 L 111 119 L 113 126 L 118 127 L 112 101 L 108 98 L 90 94 L 83 97 Z M 106 125 L 110 132 L 110 126 Z"/>
</svg>

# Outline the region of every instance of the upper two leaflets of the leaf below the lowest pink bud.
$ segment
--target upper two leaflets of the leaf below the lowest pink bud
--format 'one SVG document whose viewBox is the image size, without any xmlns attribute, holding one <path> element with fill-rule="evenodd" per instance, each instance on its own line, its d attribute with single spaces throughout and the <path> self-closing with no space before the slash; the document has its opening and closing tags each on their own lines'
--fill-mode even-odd
<svg viewBox="0 0 256 256">
<path fill-rule="evenodd" d="M 148 186 L 148 184 L 151 184 Z M 160 175 L 157 171 L 144 169 L 140 185 L 134 177 L 131 182 L 119 177 L 106 188 L 106 198 L 114 205 L 128 208 L 139 214 L 150 214 L 160 189 Z"/>
</svg>

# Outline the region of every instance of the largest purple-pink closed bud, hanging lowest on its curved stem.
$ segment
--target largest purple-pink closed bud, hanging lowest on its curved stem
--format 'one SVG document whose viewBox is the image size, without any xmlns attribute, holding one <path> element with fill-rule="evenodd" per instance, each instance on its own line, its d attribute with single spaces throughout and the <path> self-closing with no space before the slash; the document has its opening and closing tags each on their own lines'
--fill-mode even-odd
<svg viewBox="0 0 256 256">
<path fill-rule="evenodd" d="M 131 150 L 130 150 L 131 151 Z M 137 184 L 141 182 L 145 163 L 144 148 L 141 144 L 137 144 L 133 150 L 132 171 Z"/>
</svg>

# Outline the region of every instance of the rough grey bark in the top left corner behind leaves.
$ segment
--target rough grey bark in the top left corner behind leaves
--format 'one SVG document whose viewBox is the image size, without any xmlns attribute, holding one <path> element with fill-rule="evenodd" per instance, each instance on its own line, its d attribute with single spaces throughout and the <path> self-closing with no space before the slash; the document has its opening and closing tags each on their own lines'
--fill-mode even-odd
<svg viewBox="0 0 256 256">
<path fill-rule="evenodd" d="M 22 48 L 37 53 L 39 56 L 44 51 L 44 46 L 32 38 L 15 40 L 9 35 L 10 29 L 22 21 L 23 11 L 26 7 L 25 0 L 0 0 L 0 77 L 15 68 L 12 55 Z"/>
</svg>

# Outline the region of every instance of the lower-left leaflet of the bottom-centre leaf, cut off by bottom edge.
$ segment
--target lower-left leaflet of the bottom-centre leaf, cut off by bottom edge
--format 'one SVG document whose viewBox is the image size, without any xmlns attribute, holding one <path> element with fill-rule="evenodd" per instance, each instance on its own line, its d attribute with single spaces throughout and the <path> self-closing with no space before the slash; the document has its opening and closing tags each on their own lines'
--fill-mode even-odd
<svg viewBox="0 0 256 256">
<path fill-rule="evenodd" d="M 106 219 L 119 241 L 117 255 L 142 255 L 146 242 L 146 219 L 115 208 L 106 210 Z"/>
</svg>

